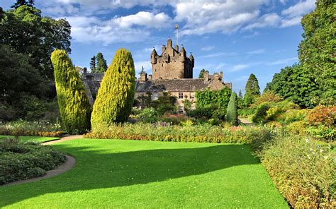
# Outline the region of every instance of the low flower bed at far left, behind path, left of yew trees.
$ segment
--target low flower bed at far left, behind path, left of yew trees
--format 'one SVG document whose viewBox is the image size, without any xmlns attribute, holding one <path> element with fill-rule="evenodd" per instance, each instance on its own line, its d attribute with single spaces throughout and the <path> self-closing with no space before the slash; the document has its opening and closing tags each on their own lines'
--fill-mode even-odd
<svg viewBox="0 0 336 209">
<path fill-rule="evenodd" d="M 42 121 L 13 121 L 0 126 L 0 135 L 13 136 L 62 136 L 60 124 L 50 124 Z"/>
</svg>

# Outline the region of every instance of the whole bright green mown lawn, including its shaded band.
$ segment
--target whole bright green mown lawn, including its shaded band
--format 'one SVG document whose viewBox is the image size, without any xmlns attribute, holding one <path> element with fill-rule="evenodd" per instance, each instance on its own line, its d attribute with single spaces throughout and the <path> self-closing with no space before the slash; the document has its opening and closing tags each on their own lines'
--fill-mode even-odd
<svg viewBox="0 0 336 209">
<path fill-rule="evenodd" d="M 78 139 L 77 165 L 0 187 L 0 208 L 288 208 L 248 145 Z"/>
</svg>

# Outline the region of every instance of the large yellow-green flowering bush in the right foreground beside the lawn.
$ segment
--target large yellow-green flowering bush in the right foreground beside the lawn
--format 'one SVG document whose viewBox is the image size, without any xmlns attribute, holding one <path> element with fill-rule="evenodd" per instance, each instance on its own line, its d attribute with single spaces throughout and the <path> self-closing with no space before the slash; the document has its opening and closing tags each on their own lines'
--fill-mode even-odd
<svg viewBox="0 0 336 209">
<path fill-rule="evenodd" d="M 335 207 L 336 153 L 330 145 L 299 136 L 276 136 L 259 157 L 293 208 Z"/>
</svg>

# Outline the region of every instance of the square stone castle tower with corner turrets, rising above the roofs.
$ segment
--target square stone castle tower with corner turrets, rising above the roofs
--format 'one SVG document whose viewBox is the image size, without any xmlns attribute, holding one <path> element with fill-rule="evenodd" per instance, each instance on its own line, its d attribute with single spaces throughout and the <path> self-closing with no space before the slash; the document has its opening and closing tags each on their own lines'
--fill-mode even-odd
<svg viewBox="0 0 336 209">
<path fill-rule="evenodd" d="M 150 54 L 153 79 L 193 78 L 194 56 L 187 57 L 183 45 L 173 47 L 172 40 L 167 40 L 167 47 L 162 45 L 162 54 L 153 49 Z"/>
</svg>

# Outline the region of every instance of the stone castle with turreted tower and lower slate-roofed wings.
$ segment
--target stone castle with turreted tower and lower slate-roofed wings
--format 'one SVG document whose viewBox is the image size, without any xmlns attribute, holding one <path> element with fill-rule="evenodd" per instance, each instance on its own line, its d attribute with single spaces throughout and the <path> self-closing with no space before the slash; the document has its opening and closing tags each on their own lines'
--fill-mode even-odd
<svg viewBox="0 0 336 209">
<path fill-rule="evenodd" d="M 232 88 L 231 83 L 223 82 L 223 72 L 210 75 L 205 71 L 203 78 L 193 78 L 193 68 L 195 59 L 192 54 L 186 56 L 186 49 L 183 45 L 179 51 L 179 46 L 172 47 L 172 40 L 168 39 L 167 46 L 162 46 L 162 54 L 157 54 L 153 49 L 150 54 L 152 64 L 152 74 L 147 75 L 144 71 L 140 73 L 140 78 L 135 80 L 135 99 L 142 95 L 152 95 L 152 100 L 169 92 L 177 97 L 177 107 L 179 113 L 184 112 L 183 100 L 193 102 L 191 108 L 195 108 L 196 91 L 198 90 L 222 90 L 225 87 Z M 91 104 L 98 92 L 103 73 L 84 72 L 82 80 L 86 87 L 86 92 Z"/>
</svg>

